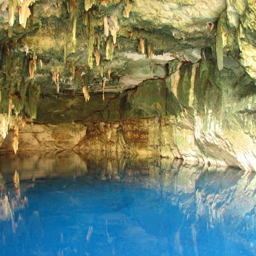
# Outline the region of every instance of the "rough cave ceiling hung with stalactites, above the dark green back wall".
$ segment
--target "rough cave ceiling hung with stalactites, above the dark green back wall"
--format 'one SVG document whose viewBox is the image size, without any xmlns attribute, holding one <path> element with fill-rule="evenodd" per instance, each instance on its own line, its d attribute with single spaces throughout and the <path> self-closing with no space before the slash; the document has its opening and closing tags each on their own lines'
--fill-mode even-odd
<svg viewBox="0 0 256 256">
<path fill-rule="evenodd" d="M 83 75 L 89 91 L 102 77 L 106 90 L 124 90 L 164 77 L 174 58 L 199 60 L 225 8 L 225 0 L 0 0 L 2 54 L 24 58 L 18 69 L 28 79 L 49 79 L 42 93 L 56 92 L 56 79 L 60 92 L 82 91 Z"/>
</svg>

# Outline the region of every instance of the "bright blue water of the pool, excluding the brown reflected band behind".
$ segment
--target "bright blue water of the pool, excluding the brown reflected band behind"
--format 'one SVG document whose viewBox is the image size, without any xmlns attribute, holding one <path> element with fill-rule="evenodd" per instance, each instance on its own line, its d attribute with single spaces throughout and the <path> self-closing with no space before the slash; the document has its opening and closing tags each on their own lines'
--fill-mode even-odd
<svg viewBox="0 0 256 256">
<path fill-rule="evenodd" d="M 0 220 L 0 255 L 256 255 L 255 207 L 242 214 L 250 202 L 236 193 L 243 173 L 180 172 L 20 181 L 28 204 L 13 207 L 14 228 Z"/>
</svg>

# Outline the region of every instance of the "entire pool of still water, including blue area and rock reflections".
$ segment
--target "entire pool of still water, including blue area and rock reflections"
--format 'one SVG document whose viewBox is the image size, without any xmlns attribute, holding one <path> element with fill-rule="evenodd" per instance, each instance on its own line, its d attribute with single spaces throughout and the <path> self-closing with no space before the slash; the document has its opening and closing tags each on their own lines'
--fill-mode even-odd
<svg viewBox="0 0 256 256">
<path fill-rule="evenodd" d="M 255 173 L 74 152 L 0 171 L 1 255 L 256 255 Z"/>
</svg>

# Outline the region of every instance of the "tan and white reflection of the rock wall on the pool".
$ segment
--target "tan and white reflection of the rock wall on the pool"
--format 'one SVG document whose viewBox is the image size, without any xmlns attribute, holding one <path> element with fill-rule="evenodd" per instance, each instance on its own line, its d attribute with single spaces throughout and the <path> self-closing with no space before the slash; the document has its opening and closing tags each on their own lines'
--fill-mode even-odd
<svg viewBox="0 0 256 256">
<path fill-rule="evenodd" d="M 74 152 L 63 151 L 56 154 L 0 156 L 0 172 L 3 173 L 3 177 L 0 177 L 0 186 L 12 184 L 15 169 L 20 173 L 20 180 L 26 180 L 20 186 L 22 196 L 26 195 L 26 189 L 36 186 L 36 182 L 40 182 L 38 180 L 49 177 L 76 179 L 88 176 L 89 179 L 94 177 L 125 183 L 139 182 L 147 189 L 154 189 L 158 195 L 163 196 L 163 200 L 166 200 L 170 207 L 175 207 L 175 211 L 184 214 L 184 220 L 170 216 L 175 233 L 179 232 L 180 236 L 187 232 L 196 235 L 196 232 L 202 230 L 218 232 L 219 228 L 228 227 L 235 233 L 227 234 L 229 239 L 243 244 L 248 251 L 255 248 L 256 179 L 253 172 L 244 175 L 244 172 L 234 168 L 193 166 L 182 163 L 181 160 L 159 160 L 158 157 L 129 158 L 126 154 L 116 156 L 106 152 L 84 153 L 78 156 Z M 137 214 L 136 207 L 130 214 L 131 217 L 136 216 L 136 220 L 145 218 L 143 214 Z M 146 230 L 151 227 L 143 221 L 138 223 L 143 223 Z M 191 229 L 187 230 L 188 226 Z M 157 225 L 154 227 L 157 228 Z M 220 233 L 222 234 L 223 230 Z M 243 236 L 249 237 L 248 241 L 245 241 Z M 198 241 L 198 246 L 203 246 L 202 241 Z"/>
</svg>

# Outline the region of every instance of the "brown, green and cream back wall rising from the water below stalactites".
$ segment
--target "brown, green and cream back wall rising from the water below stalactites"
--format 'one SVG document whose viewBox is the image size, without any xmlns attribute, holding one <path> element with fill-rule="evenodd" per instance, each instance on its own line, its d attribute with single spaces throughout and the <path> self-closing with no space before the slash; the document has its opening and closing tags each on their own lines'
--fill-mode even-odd
<svg viewBox="0 0 256 256">
<path fill-rule="evenodd" d="M 20 129 L 20 151 L 106 150 L 255 170 L 255 87 L 250 77 L 239 66 L 216 72 L 211 60 L 172 61 L 169 67 L 166 79 L 145 81 L 126 94 L 109 94 L 101 106 L 95 102 L 98 94 L 84 108 L 79 97 L 54 99 L 52 105 L 51 98 L 43 99 L 38 122 L 45 125 Z M 1 152 L 10 149 L 10 140 Z"/>
</svg>

